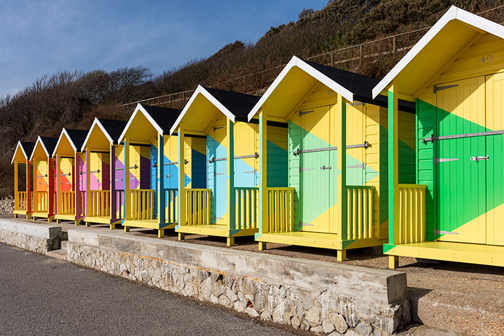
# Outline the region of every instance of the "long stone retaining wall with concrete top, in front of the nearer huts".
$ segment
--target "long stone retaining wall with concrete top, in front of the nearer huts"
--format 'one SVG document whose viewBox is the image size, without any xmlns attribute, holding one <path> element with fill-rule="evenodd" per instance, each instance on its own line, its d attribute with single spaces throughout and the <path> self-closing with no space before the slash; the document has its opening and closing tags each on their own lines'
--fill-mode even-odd
<svg viewBox="0 0 504 336">
<path fill-rule="evenodd" d="M 316 333 L 390 335 L 410 321 L 406 275 L 125 233 L 68 230 L 67 259 Z"/>
</svg>

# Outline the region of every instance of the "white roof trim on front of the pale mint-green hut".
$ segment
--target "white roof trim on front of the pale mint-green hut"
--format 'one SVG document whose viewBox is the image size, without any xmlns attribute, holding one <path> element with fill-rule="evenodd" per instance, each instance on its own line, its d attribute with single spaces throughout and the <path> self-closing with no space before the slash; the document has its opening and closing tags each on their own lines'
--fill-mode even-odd
<svg viewBox="0 0 504 336">
<path fill-rule="evenodd" d="M 273 81 L 273 83 L 271 83 L 271 86 L 269 86 L 268 90 L 266 90 L 266 92 L 264 92 L 264 95 L 262 95 L 262 97 L 261 97 L 261 99 L 259 99 L 258 103 L 256 103 L 255 106 L 252 108 L 251 112 L 249 112 L 249 121 L 251 121 L 251 119 L 259 111 L 259 109 L 264 104 L 264 102 L 275 91 L 275 89 L 282 82 L 284 77 L 287 76 L 287 74 L 289 73 L 291 68 L 293 68 L 295 66 L 297 66 L 298 68 L 300 68 L 304 72 L 307 72 L 308 75 L 317 79 L 318 81 L 320 81 L 320 83 L 323 83 L 328 88 L 331 88 L 332 90 L 334 90 L 338 94 L 342 95 L 342 97 L 344 97 L 348 101 L 353 102 L 353 93 L 351 91 L 347 90 L 347 88 L 344 88 L 340 84 L 336 83 L 336 81 L 333 81 L 332 79 L 330 79 L 326 75 L 322 74 L 322 72 L 316 70 L 316 68 L 313 68 L 312 66 L 310 66 L 308 63 L 306 63 L 305 61 L 303 61 L 299 57 L 293 56 L 291 58 L 291 60 L 289 61 L 289 63 L 287 63 L 287 66 L 285 66 L 285 68 L 282 70 L 282 72 L 280 72 L 280 75 L 278 75 L 278 77 L 275 78 L 275 81 Z"/>
</svg>

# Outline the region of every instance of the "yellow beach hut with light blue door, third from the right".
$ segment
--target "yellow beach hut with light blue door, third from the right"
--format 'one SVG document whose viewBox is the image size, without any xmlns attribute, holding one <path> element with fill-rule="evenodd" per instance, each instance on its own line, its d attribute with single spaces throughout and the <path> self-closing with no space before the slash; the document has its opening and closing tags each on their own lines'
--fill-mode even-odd
<svg viewBox="0 0 504 336">
<path fill-rule="evenodd" d="M 189 146 L 206 153 L 202 186 L 179 184 L 180 212 L 175 230 L 186 234 L 234 238 L 258 231 L 258 181 L 260 157 L 258 120 L 247 114 L 259 97 L 198 86 L 171 128 L 178 132 L 179 161 L 186 155 L 188 135 L 202 137 Z M 287 123 L 271 121 L 267 141 L 271 160 L 269 186 L 287 181 Z M 206 143 L 206 144 L 205 144 Z M 180 165 L 184 171 L 184 164 Z M 231 178 L 230 178 L 231 177 Z"/>
</svg>

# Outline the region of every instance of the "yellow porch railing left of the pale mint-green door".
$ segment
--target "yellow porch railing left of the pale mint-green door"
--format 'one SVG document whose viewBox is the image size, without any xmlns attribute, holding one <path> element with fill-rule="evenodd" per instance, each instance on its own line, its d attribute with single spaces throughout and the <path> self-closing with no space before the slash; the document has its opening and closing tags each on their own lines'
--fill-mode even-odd
<svg viewBox="0 0 504 336">
<path fill-rule="evenodd" d="M 266 188 L 268 191 L 268 232 L 294 230 L 294 188 Z"/>
</svg>

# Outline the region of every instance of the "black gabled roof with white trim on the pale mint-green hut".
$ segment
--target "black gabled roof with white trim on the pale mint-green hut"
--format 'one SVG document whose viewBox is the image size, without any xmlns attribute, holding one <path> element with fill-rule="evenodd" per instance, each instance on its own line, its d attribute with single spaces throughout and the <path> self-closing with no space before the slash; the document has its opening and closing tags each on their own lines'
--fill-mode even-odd
<svg viewBox="0 0 504 336">
<path fill-rule="evenodd" d="M 372 90 L 378 83 L 378 79 L 338 68 L 332 68 L 330 66 L 324 66 L 323 64 L 312 61 L 304 61 L 299 57 L 293 56 L 291 61 L 287 63 L 287 66 L 285 66 L 282 72 L 280 72 L 280 75 L 278 75 L 275 81 L 273 81 L 268 90 L 264 92 L 264 95 L 258 103 L 256 103 L 251 109 L 249 112 L 249 120 L 255 116 L 264 102 L 271 96 L 282 80 L 287 76 L 289 71 L 294 67 L 300 68 L 308 75 L 320 81 L 320 83 L 323 83 L 334 92 L 339 93 L 350 102 L 362 101 L 365 103 L 374 103 L 380 106 L 386 106 L 387 104 L 387 97 L 378 97 L 376 99 L 373 99 L 372 97 Z M 401 110 L 414 112 L 414 108 L 414 103 L 403 100 L 400 101 Z"/>
</svg>

